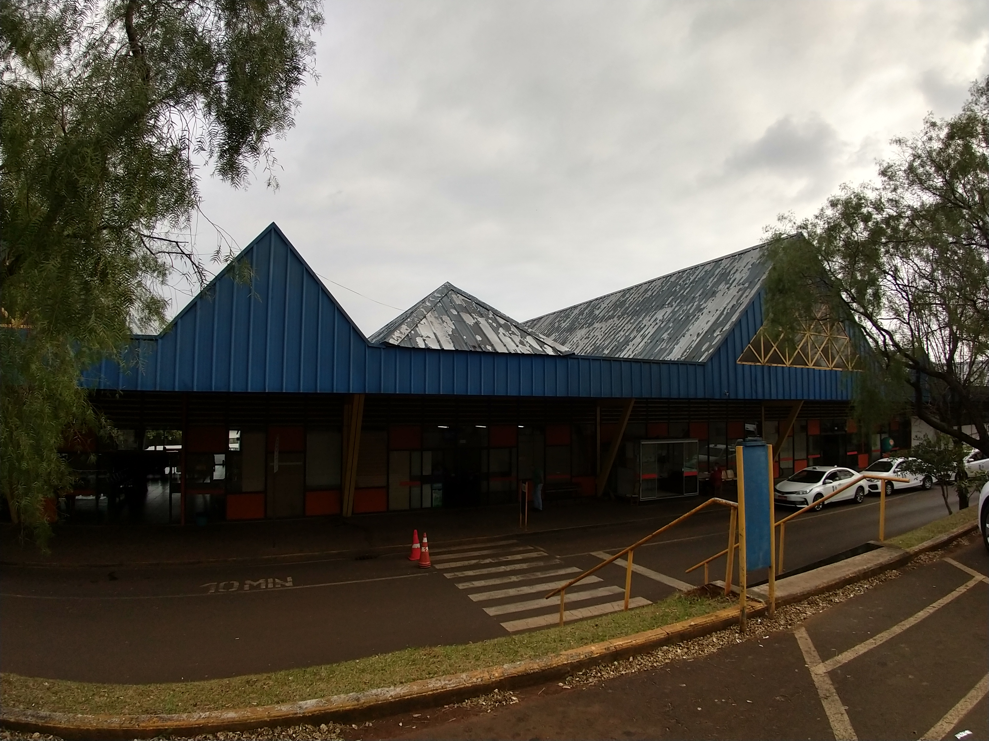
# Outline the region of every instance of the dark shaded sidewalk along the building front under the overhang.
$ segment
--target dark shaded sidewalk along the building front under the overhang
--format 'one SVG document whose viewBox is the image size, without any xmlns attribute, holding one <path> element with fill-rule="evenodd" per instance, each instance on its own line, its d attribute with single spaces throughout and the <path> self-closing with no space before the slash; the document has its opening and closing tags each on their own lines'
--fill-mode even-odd
<svg viewBox="0 0 989 741">
<path fill-rule="evenodd" d="M 413 529 L 444 534 L 433 544 L 469 542 L 502 535 L 546 534 L 572 529 L 650 523 L 673 519 L 699 501 L 696 497 L 631 505 L 586 498 L 551 502 L 544 512 L 529 511 L 519 528 L 517 505 L 418 510 L 375 515 L 216 523 L 206 527 L 143 525 L 56 525 L 43 554 L 20 538 L 10 524 L 0 526 L 0 565 L 147 566 L 231 561 L 265 561 L 328 554 L 384 553 L 409 547 Z M 657 526 L 659 527 L 659 526 Z"/>
</svg>

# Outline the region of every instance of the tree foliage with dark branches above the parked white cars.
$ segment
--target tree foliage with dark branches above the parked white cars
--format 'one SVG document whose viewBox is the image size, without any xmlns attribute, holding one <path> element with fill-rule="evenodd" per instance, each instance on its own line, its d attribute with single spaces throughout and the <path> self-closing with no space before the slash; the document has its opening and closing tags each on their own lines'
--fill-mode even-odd
<svg viewBox="0 0 989 741">
<path fill-rule="evenodd" d="M 989 78 L 958 115 L 892 143 L 875 182 L 769 229 L 767 323 L 848 322 L 864 423 L 909 412 L 989 453 Z"/>
</svg>

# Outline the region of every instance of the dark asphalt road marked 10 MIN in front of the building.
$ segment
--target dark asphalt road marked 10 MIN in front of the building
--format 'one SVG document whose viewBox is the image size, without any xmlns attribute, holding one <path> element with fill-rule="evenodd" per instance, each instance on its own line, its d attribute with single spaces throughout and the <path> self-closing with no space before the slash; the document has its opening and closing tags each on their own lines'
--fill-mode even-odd
<svg viewBox="0 0 989 741">
<path fill-rule="evenodd" d="M 684 509 L 680 502 L 656 512 L 664 506 L 668 520 Z M 944 514 L 937 491 L 897 494 L 887 503 L 886 534 Z M 787 526 L 787 568 L 876 537 L 877 518 L 878 501 L 866 499 L 797 519 Z M 7 566 L 0 670 L 89 682 L 188 681 L 497 637 L 555 620 L 559 603 L 538 602 L 548 591 L 542 585 L 572 578 L 600 562 L 595 553 L 614 552 L 657 522 L 512 534 L 453 550 L 444 540 L 457 533 L 433 533 L 428 570 L 396 555 L 113 571 Z M 683 571 L 724 547 L 727 522 L 726 511 L 705 511 L 641 548 L 635 564 L 647 573 L 636 573 L 632 588 L 639 604 L 674 593 L 656 575 L 699 584 L 701 570 Z M 714 562 L 711 579 L 723 578 L 724 568 L 723 559 Z M 624 568 L 598 576 L 583 594 L 575 590 L 573 605 L 568 599 L 574 617 L 621 600 Z"/>
</svg>

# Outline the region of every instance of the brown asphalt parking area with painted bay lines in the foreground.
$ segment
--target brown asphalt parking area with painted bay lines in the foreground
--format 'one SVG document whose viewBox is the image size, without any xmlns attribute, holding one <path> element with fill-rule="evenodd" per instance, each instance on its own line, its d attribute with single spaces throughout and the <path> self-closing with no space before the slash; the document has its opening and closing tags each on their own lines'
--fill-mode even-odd
<svg viewBox="0 0 989 741">
<path fill-rule="evenodd" d="M 753 626 L 752 639 L 707 656 L 592 685 L 526 688 L 494 709 L 405 713 L 352 735 L 986 741 L 989 558 L 980 542 L 949 557 L 793 630 L 761 636 Z"/>
</svg>

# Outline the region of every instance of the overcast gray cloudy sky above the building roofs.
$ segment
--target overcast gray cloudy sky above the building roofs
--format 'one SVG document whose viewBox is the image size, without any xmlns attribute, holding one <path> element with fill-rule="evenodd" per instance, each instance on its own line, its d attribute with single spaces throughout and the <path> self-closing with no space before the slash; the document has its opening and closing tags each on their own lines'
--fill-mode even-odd
<svg viewBox="0 0 989 741">
<path fill-rule="evenodd" d="M 524 320 L 756 244 L 989 74 L 979 1 L 327 0 L 325 16 L 320 79 L 275 142 L 281 189 L 207 177 L 204 211 L 240 247 L 277 222 L 369 297 L 326 283 L 368 334 L 445 281 Z M 216 242 L 202 220 L 196 236 Z"/>
</svg>

